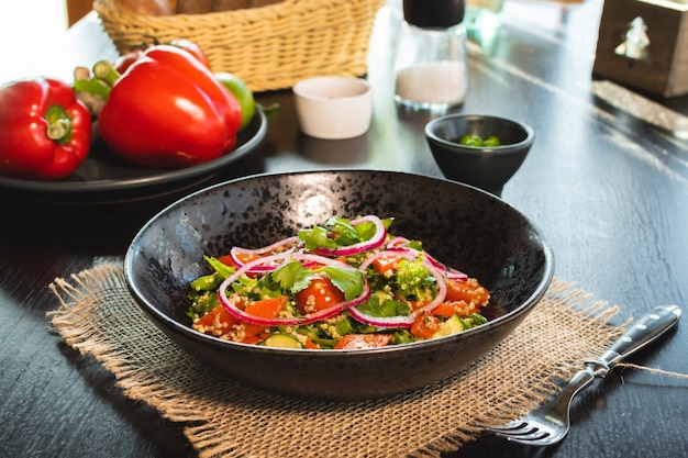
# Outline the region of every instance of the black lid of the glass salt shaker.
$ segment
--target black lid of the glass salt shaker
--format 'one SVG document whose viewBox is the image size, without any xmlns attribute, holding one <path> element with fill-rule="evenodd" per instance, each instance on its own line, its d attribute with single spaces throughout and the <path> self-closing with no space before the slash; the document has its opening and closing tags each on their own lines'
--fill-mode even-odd
<svg viewBox="0 0 688 458">
<path fill-rule="evenodd" d="M 403 0 L 403 19 L 424 29 L 446 29 L 464 20 L 465 0 Z"/>
</svg>

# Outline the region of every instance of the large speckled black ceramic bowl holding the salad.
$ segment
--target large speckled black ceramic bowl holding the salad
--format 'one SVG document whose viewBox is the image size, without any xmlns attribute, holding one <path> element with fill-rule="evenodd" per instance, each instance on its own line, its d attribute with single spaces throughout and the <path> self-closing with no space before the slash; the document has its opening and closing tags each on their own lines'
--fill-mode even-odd
<svg viewBox="0 0 688 458">
<path fill-rule="evenodd" d="M 491 291 L 488 324 L 404 346 L 308 350 L 220 340 L 189 327 L 189 281 L 209 273 L 203 255 L 260 247 L 330 216 L 393 216 L 392 233 L 423 241 L 441 261 Z M 517 210 L 444 179 L 368 170 L 262 175 L 221 183 L 163 210 L 124 260 L 134 298 L 198 360 L 288 395 L 353 400 L 414 390 L 465 368 L 500 343 L 544 295 L 553 255 Z"/>
</svg>

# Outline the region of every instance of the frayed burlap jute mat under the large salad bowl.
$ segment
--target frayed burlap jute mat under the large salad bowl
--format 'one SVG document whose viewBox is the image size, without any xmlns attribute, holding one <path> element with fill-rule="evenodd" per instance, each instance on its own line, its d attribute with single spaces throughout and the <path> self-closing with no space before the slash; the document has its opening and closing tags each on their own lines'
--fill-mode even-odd
<svg viewBox="0 0 688 458">
<path fill-rule="evenodd" d="M 440 457 L 479 435 L 475 423 L 525 413 L 596 359 L 628 322 L 618 308 L 556 280 L 525 321 L 462 372 L 392 398 L 332 402 L 247 387 L 189 357 L 131 297 L 122 266 L 103 264 L 49 288 L 65 342 L 111 371 L 132 400 L 185 433 L 200 457 Z"/>
</svg>

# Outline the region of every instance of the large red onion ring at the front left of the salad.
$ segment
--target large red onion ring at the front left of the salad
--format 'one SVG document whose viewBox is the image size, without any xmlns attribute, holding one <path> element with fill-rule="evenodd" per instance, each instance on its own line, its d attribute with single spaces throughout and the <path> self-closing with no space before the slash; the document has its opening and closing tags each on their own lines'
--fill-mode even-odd
<svg viewBox="0 0 688 458">
<path fill-rule="evenodd" d="M 280 325 L 281 326 L 298 326 L 302 324 L 310 324 L 317 321 L 326 320 L 331 316 L 337 315 L 351 306 L 355 306 L 367 301 L 368 298 L 370 297 L 370 287 L 368 282 L 365 281 L 364 279 L 364 287 L 363 287 L 360 294 L 358 294 L 358 297 L 354 298 L 353 300 L 341 301 L 335 304 L 332 304 L 328 309 L 318 311 L 315 313 L 310 313 L 304 316 L 297 316 L 297 317 L 291 317 L 291 319 L 282 319 L 282 317 L 266 319 L 262 316 L 252 315 L 249 313 L 244 312 L 243 310 L 237 309 L 236 305 L 226 297 L 226 289 L 238 277 L 241 277 L 242 275 L 246 272 L 252 271 L 252 269 L 255 268 L 256 266 L 259 266 L 263 262 L 273 264 L 273 262 L 279 261 L 280 264 L 284 264 L 285 261 L 288 261 L 289 259 L 304 259 L 304 260 L 318 261 L 319 264 L 324 264 L 324 265 L 330 265 L 330 266 L 346 267 L 348 269 L 352 268 L 349 265 L 345 262 L 341 262 L 341 261 L 325 258 L 323 256 L 318 256 L 318 255 L 308 255 L 308 254 L 299 254 L 299 253 L 295 253 L 295 254 L 280 253 L 278 255 L 265 256 L 259 259 L 254 259 L 249 262 L 246 262 L 244 266 L 236 269 L 234 275 L 228 277 L 220 284 L 220 288 L 218 288 L 218 298 L 220 299 L 222 306 L 224 306 L 224 309 L 232 315 L 251 324 L 257 324 L 260 326 L 280 326 Z"/>
</svg>

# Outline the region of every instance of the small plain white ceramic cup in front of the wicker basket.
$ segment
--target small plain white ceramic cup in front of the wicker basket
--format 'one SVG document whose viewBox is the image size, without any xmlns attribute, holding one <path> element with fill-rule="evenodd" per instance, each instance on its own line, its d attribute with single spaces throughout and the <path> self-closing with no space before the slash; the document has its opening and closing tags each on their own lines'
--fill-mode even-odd
<svg viewBox="0 0 688 458">
<path fill-rule="evenodd" d="M 293 86 L 297 116 L 315 138 L 353 138 L 366 133 L 373 116 L 370 85 L 360 78 L 324 76 Z"/>
</svg>

